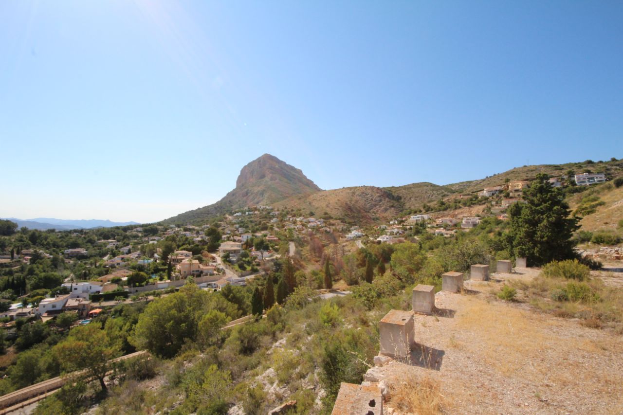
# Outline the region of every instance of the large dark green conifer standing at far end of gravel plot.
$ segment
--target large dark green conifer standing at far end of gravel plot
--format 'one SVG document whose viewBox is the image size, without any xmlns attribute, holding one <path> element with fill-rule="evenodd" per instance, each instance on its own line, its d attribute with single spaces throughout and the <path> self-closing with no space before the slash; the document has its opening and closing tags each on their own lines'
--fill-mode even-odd
<svg viewBox="0 0 623 415">
<path fill-rule="evenodd" d="M 552 260 L 576 257 L 573 251 L 573 232 L 579 228 L 578 217 L 570 217 L 564 193 L 546 182 L 545 174 L 523 192 L 526 203 L 516 203 L 508 209 L 510 232 L 506 242 L 518 257 L 526 257 L 529 265 L 543 265 Z"/>
</svg>

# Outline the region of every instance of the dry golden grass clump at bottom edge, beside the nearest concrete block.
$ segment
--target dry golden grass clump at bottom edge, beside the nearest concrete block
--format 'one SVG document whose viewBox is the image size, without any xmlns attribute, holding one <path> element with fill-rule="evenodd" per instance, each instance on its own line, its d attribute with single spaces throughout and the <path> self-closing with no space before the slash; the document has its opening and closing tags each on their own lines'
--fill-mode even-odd
<svg viewBox="0 0 623 415">
<path fill-rule="evenodd" d="M 439 415 L 448 413 L 449 404 L 441 394 L 439 381 L 425 376 L 407 377 L 390 386 L 388 406 L 407 414 Z"/>
</svg>

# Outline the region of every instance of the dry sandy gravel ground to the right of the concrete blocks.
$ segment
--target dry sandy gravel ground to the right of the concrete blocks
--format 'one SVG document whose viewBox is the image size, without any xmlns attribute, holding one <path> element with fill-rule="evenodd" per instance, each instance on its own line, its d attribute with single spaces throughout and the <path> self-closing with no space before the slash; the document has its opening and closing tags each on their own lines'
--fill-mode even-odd
<svg viewBox="0 0 623 415">
<path fill-rule="evenodd" d="M 503 280 L 538 275 L 518 271 L 437 293 L 443 311 L 416 316 L 412 361 L 372 371 L 394 389 L 413 378 L 439 384 L 447 413 L 623 414 L 623 336 L 493 299 Z"/>
</svg>

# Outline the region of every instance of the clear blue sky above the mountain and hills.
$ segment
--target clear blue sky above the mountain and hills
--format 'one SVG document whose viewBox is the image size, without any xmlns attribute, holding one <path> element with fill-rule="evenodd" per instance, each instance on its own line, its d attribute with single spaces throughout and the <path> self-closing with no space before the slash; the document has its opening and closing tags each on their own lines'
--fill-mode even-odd
<svg viewBox="0 0 623 415">
<path fill-rule="evenodd" d="M 623 158 L 621 1 L 0 2 L 0 217 L 158 221 Z"/>
</svg>

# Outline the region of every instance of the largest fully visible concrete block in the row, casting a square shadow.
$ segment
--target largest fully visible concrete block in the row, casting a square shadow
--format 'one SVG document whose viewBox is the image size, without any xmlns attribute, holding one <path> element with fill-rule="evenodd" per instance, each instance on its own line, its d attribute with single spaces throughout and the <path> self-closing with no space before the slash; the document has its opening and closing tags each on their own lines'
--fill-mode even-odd
<svg viewBox="0 0 623 415">
<path fill-rule="evenodd" d="M 406 358 L 411 353 L 415 341 L 413 313 L 391 310 L 381 319 L 379 334 L 381 336 L 380 355 L 392 358 Z"/>
</svg>

